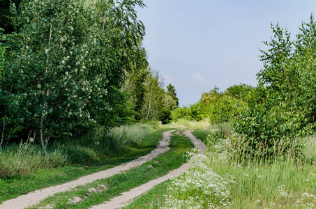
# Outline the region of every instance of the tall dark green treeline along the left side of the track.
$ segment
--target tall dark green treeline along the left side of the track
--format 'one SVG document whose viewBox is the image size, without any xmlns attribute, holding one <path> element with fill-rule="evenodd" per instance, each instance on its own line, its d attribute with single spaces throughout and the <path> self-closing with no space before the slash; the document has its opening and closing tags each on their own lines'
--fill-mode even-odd
<svg viewBox="0 0 316 209">
<path fill-rule="evenodd" d="M 97 126 L 170 120 L 174 86 L 165 92 L 149 68 L 142 0 L 1 3 L 1 148 L 32 138 L 46 150 Z"/>
</svg>

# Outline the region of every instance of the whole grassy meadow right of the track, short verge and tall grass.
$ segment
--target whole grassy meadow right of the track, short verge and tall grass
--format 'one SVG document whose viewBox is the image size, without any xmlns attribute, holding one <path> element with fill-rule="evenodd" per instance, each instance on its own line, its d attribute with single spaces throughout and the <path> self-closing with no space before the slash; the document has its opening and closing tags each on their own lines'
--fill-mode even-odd
<svg viewBox="0 0 316 209">
<path fill-rule="evenodd" d="M 207 143 L 210 137 L 220 135 L 219 133 L 211 134 L 211 130 L 223 133 L 231 131 L 228 125 L 222 125 L 222 127 L 223 130 L 220 130 L 221 127 L 218 127 L 218 125 L 208 129 L 200 128 L 195 130 L 193 134 Z M 234 181 L 227 184 L 226 187 L 226 192 L 230 194 L 230 198 L 225 203 L 229 203 L 223 204 L 224 201 L 220 203 L 212 200 L 211 204 L 207 205 L 207 201 L 212 198 L 206 196 L 206 191 L 203 189 L 199 191 L 195 189 L 195 192 L 192 192 L 194 189 L 187 189 L 187 191 L 182 189 L 181 191 L 181 186 L 187 185 L 188 182 L 195 182 L 197 184 L 195 187 L 203 184 L 195 179 L 198 176 L 197 171 L 201 170 L 201 168 L 195 167 L 194 175 L 186 174 L 185 177 L 179 177 L 162 185 L 157 185 L 126 208 L 316 207 L 315 136 L 294 139 L 305 144 L 301 157 L 294 155 L 291 149 L 289 149 L 287 156 L 278 155 L 278 152 L 283 153 L 283 146 L 287 146 L 287 143 L 293 143 L 293 141 L 281 142 L 283 145 L 275 144 L 275 156 L 269 162 L 259 155 L 256 156 L 255 160 L 249 160 L 246 156 L 243 156 L 241 151 L 243 150 L 241 148 L 243 140 L 245 140 L 243 137 L 234 134 L 231 134 L 227 139 L 216 139 L 212 142 L 213 148 L 209 148 L 209 150 L 213 150 L 213 153 L 209 153 L 208 160 L 204 160 L 204 162 L 208 162 L 206 166 L 209 171 L 216 173 L 218 179 L 224 178 L 225 182 L 225 178 L 228 176 Z M 243 145 L 246 146 L 246 144 Z M 200 162 L 193 163 L 197 166 L 200 164 Z M 200 167 L 204 166 L 205 164 L 200 165 Z M 190 171 L 187 173 L 190 173 Z M 213 175 L 216 176 L 216 174 Z M 179 181 L 181 178 L 184 178 L 185 181 Z M 200 178 L 203 178 L 206 182 L 208 181 L 207 175 L 200 176 Z M 179 182 L 177 183 L 177 181 Z M 214 180 L 210 180 L 209 184 L 213 182 Z M 204 184 L 204 187 L 207 187 L 207 183 Z M 168 189 L 170 187 L 173 189 Z M 191 185 L 191 187 L 193 186 Z M 216 189 L 216 186 L 213 188 Z M 204 192 L 204 194 L 201 192 Z M 209 192 L 206 193 L 209 194 Z M 172 196 L 171 199 L 170 196 Z M 174 196 L 178 196 L 178 199 L 174 199 Z"/>
</svg>

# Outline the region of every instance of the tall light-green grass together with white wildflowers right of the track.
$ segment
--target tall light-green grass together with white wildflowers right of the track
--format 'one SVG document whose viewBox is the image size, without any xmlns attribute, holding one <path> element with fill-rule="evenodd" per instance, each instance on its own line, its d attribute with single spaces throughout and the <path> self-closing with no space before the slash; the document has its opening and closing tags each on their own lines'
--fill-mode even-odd
<svg viewBox="0 0 316 209">
<path fill-rule="evenodd" d="M 200 171 L 209 171 L 207 175 L 200 175 L 200 179 L 206 180 L 206 185 L 212 185 L 216 180 L 208 180 L 209 175 L 217 176 L 217 180 L 227 182 L 227 176 L 234 182 L 227 186 L 214 186 L 211 191 L 200 189 L 194 195 L 190 189 L 181 189 L 176 184 L 177 180 L 170 185 L 173 190 L 167 192 L 167 205 L 165 208 L 176 208 L 181 204 L 194 203 L 196 208 L 315 208 L 316 207 L 316 139 L 315 136 L 281 139 L 273 146 L 273 155 L 264 155 L 266 150 L 258 143 L 257 152 L 249 157 L 245 149 L 248 141 L 231 132 L 226 125 L 211 127 L 206 141 L 209 141 L 209 154 L 204 164 L 193 162 L 194 175 L 186 176 L 186 183 L 195 182 L 195 187 L 201 185 L 195 180 Z M 297 155 L 296 144 L 304 144 L 302 155 Z M 286 151 L 285 151 L 286 150 Z M 197 168 L 200 167 L 200 168 Z M 187 171 L 190 173 L 192 171 Z M 216 173 L 216 174 L 212 174 Z M 223 183 L 221 183 L 223 185 Z M 195 188 L 193 187 L 193 188 Z M 178 189 L 176 189 L 178 188 Z M 212 196 L 218 188 L 223 189 L 228 199 L 218 201 Z M 186 191 L 188 190 L 188 191 Z M 227 193 L 225 193 L 227 192 Z M 181 195 L 179 195 L 181 193 Z M 229 194 L 229 195 L 228 195 Z M 174 201 L 170 196 L 181 196 Z M 219 195 L 216 195 L 219 197 Z M 211 201 L 210 201 L 211 200 Z M 210 201 L 210 202 L 209 202 Z M 172 204 L 171 204 L 172 203 Z M 225 203 L 225 204 L 223 204 Z M 190 208 L 185 205 L 183 208 Z"/>
</svg>

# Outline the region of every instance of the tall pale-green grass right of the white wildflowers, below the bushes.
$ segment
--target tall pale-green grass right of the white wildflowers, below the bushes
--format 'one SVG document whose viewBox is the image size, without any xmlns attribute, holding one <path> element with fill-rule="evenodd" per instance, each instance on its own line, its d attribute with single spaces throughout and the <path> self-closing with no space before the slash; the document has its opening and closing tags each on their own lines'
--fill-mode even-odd
<svg viewBox="0 0 316 209">
<path fill-rule="evenodd" d="M 315 137 L 280 139 L 271 157 L 258 144 L 257 153 L 250 158 L 245 154 L 247 143 L 231 134 L 218 139 L 209 155 L 213 171 L 235 177 L 230 208 L 315 208 Z M 302 155 L 297 155 L 297 143 L 305 144 Z"/>
</svg>

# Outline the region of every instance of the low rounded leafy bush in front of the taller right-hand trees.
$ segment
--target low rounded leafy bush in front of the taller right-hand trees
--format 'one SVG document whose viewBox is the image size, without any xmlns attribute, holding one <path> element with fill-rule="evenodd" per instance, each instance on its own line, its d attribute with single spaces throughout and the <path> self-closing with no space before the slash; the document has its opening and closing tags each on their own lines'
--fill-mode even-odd
<svg viewBox="0 0 316 209">
<path fill-rule="evenodd" d="M 308 132 L 307 127 L 301 127 L 302 117 L 300 114 L 287 111 L 283 105 L 269 110 L 263 105 L 257 105 L 243 111 L 232 125 L 235 132 L 243 134 L 248 139 L 248 146 L 244 148 L 250 157 L 262 151 L 263 155 L 271 157 L 274 155 L 276 144 L 280 144 L 280 141 L 290 141 Z M 302 153 L 303 141 L 287 144 L 283 153 L 279 154 L 286 155 L 289 148 L 294 149 L 293 153 L 299 156 Z"/>
</svg>

